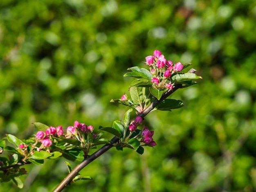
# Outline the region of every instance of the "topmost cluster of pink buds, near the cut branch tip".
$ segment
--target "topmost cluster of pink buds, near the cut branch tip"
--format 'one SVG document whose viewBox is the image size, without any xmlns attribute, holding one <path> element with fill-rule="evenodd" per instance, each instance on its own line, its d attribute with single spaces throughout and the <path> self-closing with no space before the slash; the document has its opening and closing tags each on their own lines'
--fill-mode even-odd
<svg viewBox="0 0 256 192">
<path fill-rule="evenodd" d="M 170 77 L 172 74 L 181 71 L 184 66 L 180 62 L 173 64 L 171 60 L 166 60 L 158 50 L 154 51 L 153 56 L 147 56 L 145 59 L 145 63 L 149 66 L 152 74 L 153 87 L 173 89 Z"/>
</svg>

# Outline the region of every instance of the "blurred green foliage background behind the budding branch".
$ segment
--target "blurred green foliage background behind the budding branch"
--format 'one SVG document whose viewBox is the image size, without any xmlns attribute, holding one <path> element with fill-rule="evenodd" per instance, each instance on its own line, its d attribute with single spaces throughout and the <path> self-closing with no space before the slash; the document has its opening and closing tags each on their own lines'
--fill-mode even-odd
<svg viewBox="0 0 256 192">
<path fill-rule="evenodd" d="M 113 148 L 81 172 L 94 180 L 64 191 L 256 191 L 255 23 L 255 0 L 0 0 L 0 136 L 27 138 L 33 122 L 111 126 L 126 69 L 158 49 L 203 80 L 173 94 L 181 109 L 146 117 L 155 149 Z M 0 191 L 50 192 L 64 161 L 28 165 L 23 189 Z"/>
</svg>

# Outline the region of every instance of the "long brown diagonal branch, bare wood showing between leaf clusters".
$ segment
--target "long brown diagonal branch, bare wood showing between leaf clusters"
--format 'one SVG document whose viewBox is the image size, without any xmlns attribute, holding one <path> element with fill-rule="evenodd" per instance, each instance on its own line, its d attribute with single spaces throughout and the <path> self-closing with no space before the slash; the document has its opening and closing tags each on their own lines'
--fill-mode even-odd
<svg viewBox="0 0 256 192">
<path fill-rule="evenodd" d="M 195 73 L 195 69 L 189 70 L 188 73 Z M 146 116 L 150 111 L 152 111 L 157 105 L 159 105 L 164 99 L 166 99 L 168 96 L 173 94 L 177 89 L 182 88 L 182 84 L 176 84 L 173 86 L 173 89 L 168 90 L 165 92 L 162 97 L 157 100 L 155 99 L 144 111 L 140 112 L 138 116 L 144 117 Z M 110 140 L 110 144 L 105 144 L 103 147 L 101 147 L 99 150 L 94 152 L 89 157 L 85 158 L 81 163 L 79 163 L 66 177 L 61 181 L 61 183 L 53 190 L 53 192 L 60 192 L 62 191 L 67 185 L 70 184 L 72 179 L 76 176 L 76 174 L 79 173 L 86 165 L 97 159 L 99 156 L 101 156 L 103 153 L 107 152 L 110 148 L 113 147 L 114 143 L 117 143 L 119 141 L 119 138 L 117 136 L 113 137 Z"/>
</svg>

